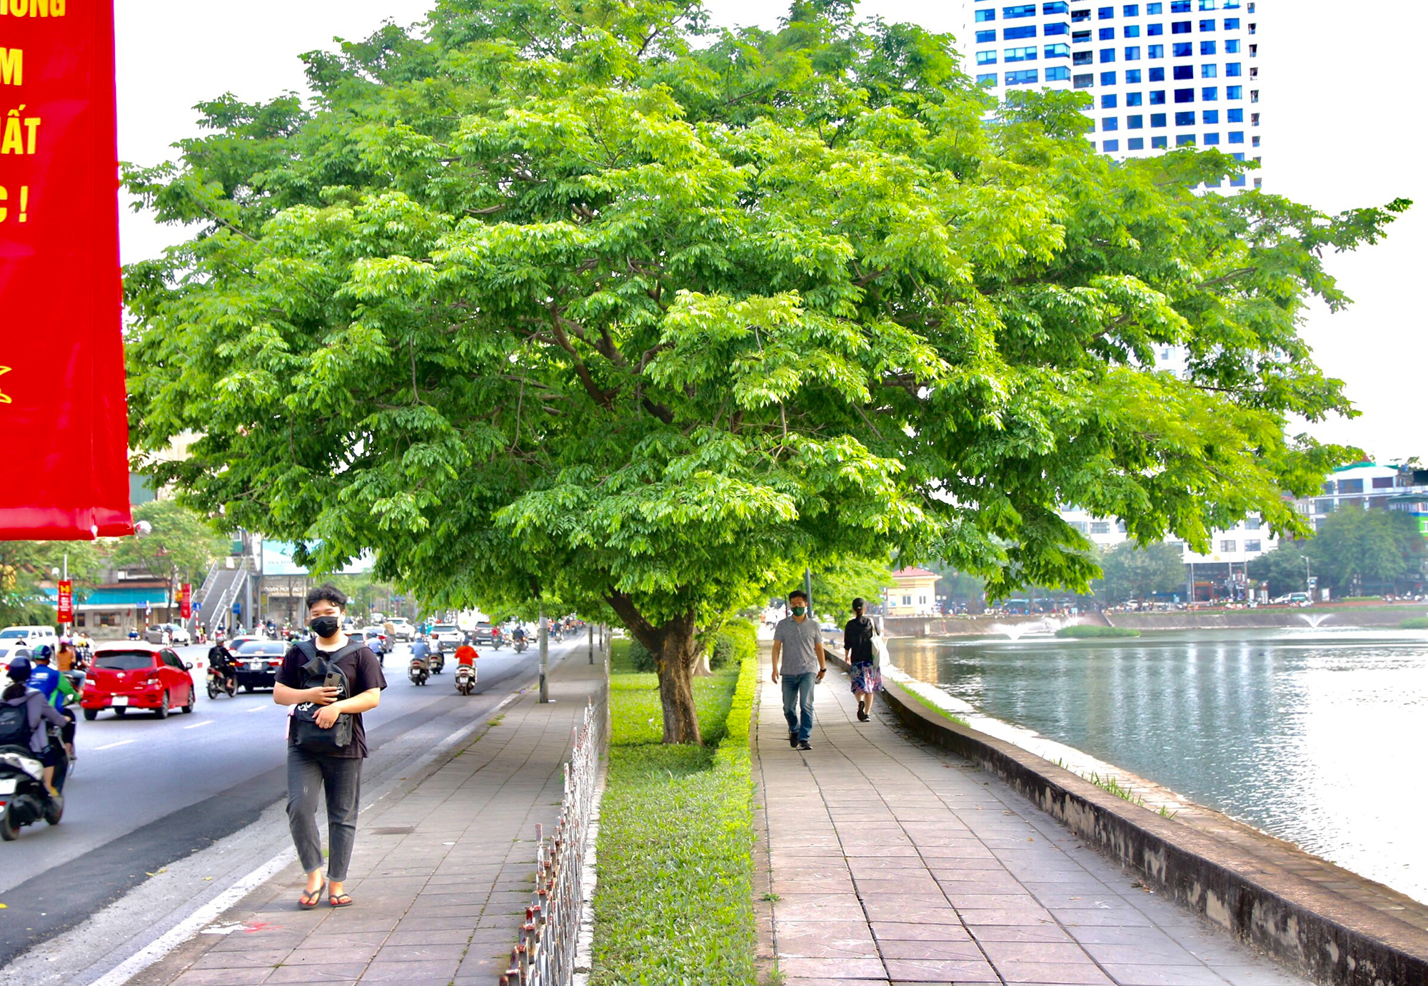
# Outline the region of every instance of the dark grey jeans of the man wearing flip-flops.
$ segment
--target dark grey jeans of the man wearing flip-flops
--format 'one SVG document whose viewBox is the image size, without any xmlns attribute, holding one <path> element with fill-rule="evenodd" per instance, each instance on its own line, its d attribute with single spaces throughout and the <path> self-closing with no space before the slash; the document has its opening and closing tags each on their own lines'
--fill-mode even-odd
<svg viewBox="0 0 1428 986">
<path fill-rule="evenodd" d="M 327 795 L 327 879 L 346 880 L 357 839 L 357 799 L 361 793 L 360 756 L 321 756 L 287 748 L 287 828 L 303 870 L 323 868 L 317 833 L 317 792 Z"/>
</svg>

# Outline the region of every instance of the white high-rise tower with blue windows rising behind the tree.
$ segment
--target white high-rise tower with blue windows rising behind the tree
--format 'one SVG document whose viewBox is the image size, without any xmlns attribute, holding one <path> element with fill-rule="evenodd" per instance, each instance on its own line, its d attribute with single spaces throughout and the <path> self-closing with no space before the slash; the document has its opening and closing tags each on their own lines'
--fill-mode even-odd
<svg viewBox="0 0 1428 986">
<path fill-rule="evenodd" d="M 998 98 L 1021 87 L 1084 91 L 1090 140 L 1115 157 L 1215 147 L 1259 158 L 1252 0 L 962 0 L 967 73 Z M 1251 173 L 1230 183 L 1258 187 Z"/>
</svg>

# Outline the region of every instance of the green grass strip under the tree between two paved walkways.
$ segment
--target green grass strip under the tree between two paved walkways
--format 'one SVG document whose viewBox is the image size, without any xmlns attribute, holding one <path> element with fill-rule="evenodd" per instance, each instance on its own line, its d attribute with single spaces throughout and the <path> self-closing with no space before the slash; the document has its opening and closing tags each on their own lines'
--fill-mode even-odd
<svg viewBox="0 0 1428 986">
<path fill-rule="evenodd" d="M 665 746 L 658 679 L 614 641 L 600 806 L 594 986 L 748 986 L 754 956 L 757 658 L 694 679 L 704 746 Z"/>
</svg>

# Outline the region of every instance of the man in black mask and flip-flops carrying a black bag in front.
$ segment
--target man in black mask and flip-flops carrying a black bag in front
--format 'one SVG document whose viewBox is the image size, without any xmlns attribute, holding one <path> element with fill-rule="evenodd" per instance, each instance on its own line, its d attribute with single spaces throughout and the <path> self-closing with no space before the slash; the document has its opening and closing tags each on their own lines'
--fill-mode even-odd
<svg viewBox="0 0 1428 986">
<path fill-rule="evenodd" d="M 333 585 L 307 594 L 313 639 L 288 648 L 273 688 L 274 702 L 294 706 L 287 719 L 287 822 L 307 872 L 307 889 L 297 902 L 304 910 L 323 896 L 318 791 L 327 798 L 327 903 L 346 908 L 353 902 L 343 883 L 357 836 L 361 762 L 367 756 L 361 713 L 377 708 L 387 686 L 371 648 L 343 634 L 346 606 L 347 596 Z M 350 732 L 340 716 L 350 718 Z"/>
</svg>

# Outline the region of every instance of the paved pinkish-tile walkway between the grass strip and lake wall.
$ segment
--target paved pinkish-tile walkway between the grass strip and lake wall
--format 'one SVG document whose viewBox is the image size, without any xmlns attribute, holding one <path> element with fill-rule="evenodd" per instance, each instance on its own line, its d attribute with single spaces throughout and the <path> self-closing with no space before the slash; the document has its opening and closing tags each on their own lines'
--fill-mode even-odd
<svg viewBox="0 0 1428 986">
<path fill-rule="evenodd" d="M 755 728 L 785 986 L 1307 986 L 881 706 L 857 722 L 835 666 L 813 752 L 788 748 L 767 652 Z"/>
</svg>

